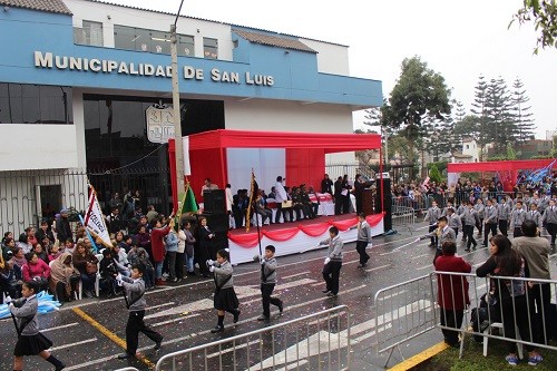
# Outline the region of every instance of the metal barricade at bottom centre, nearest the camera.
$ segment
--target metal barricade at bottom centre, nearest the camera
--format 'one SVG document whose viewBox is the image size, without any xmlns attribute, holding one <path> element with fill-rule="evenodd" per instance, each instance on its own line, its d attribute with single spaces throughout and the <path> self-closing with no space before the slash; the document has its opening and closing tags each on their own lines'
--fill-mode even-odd
<svg viewBox="0 0 557 371">
<path fill-rule="evenodd" d="M 162 357 L 162 370 L 350 370 L 350 313 L 335 306 Z"/>
</svg>

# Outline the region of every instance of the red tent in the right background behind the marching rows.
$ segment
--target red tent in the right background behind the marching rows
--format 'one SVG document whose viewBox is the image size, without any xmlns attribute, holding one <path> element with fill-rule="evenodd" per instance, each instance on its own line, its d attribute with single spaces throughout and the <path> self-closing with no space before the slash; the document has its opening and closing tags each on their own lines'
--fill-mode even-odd
<svg viewBox="0 0 557 371">
<path fill-rule="evenodd" d="M 516 160 L 502 160 L 502 162 L 459 163 L 459 164 L 451 163 L 447 165 L 447 173 L 504 172 L 510 174 L 510 180 L 512 180 L 512 185 L 515 185 L 519 170 L 536 170 L 547 167 L 553 163 L 555 163 L 555 158 L 516 159 Z M 554 164 L 554 167 L 557 167 L 557 164 Z"/>
</svg>

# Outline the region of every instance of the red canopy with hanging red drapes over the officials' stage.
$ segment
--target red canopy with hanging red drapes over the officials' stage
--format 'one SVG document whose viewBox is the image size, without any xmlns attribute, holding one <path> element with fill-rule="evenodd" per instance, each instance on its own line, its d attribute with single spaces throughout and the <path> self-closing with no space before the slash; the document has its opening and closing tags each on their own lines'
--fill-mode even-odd
<svg viewBox="0 0 557 371">
<path fill-rule="evenodd" d="M 379 149 L 377 134 L 317 134 L 213 130 L 189 136 L 189 182 L 198 197 L 205 178 L 224 186 L 227 179 L 226 148 L 285 148 L 289 184 L 320 185 L 325 169 L 325 154 Z M 380 162 L 381 164 L 381 162 Z"/>
</svg>

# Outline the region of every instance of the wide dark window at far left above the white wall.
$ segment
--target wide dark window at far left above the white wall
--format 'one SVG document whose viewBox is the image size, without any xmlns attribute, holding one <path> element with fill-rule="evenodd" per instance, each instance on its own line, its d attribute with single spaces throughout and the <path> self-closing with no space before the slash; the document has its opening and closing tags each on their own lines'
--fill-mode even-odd
<svg viewBox="0 0 557 371">
<path fill-rule="evenodd" d="M 0 124 L 69 124 L 71 88 L 0 84 Z"/>
</svg>

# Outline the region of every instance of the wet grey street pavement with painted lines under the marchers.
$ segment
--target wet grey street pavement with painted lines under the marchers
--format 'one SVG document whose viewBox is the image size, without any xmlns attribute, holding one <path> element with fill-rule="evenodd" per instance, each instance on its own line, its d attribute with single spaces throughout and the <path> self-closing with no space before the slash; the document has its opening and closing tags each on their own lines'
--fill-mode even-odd
<svg viewBox="0 0 557 371">
<path fill-rule="evenodd" d="M 276 307 L 272 307 L 272 320 L 268 323 L 256 321 L 262 310 L 258 290 L 260 266 L 255 263 L 242 264 L 234 269 L 234 284 L 240 297 L 242 315 L 240 322 L 234 325 L 232 316 L 226 314 L 225 331 L 221 334 L 209 332 L 216 324 L 216 313 L 213 310 L 212 300 L 214 290 L 212 279 L 187 277 L 179 284 L 148 291 L 145 295 L 148 305 L 146 323 L 159 331 L 164 335 L 164 341 L 163 349 L 156 352 L 153 350 L 154 344 L 140 335 L 139 351 L 145 357 L 143 361 L 116 359 L 116 355 L 123 352 L 119 344 L 125 339 L 127 321 L 127 311 L 121 297 L 92 299 L 69 303 L 58 312 L 41 315 L 39 318 L 40 326 L 43 329 L 45 335 L 53 342 L 52 353 L 66 362 L 66 370 L 116 370 L 127 365 L 148 370 L 164 354 L 345 304 L 350 307 L 351 313 L 353 333 L 350 338 L 351 340 L 358 339 L 358 342 L 352 344 L 351 369 L 383 370 L 385 354 L 378 355 L 372 343 L 374 324 L 370 320 L 374 316 L 373 296 L 382 287 L 422 276 L 433 270 L 434 251 L 427 247 L 429 240 L 412 243 L 417 236 L 423 233 L 423 230 L 414 232 L 413 235 L 404 228 L 399 231 L 400 233 L 395 235 L 373 238 L 373 247 L 369 251 L 371 260 L 365 269 L 358 267 L 355 244 L 345 245 L 340 279 L 341 289 L 336 297 L 326 297 L 321 292 L 324 289 L 321 270 L 326 250 L 278 257 L 278 285 L 275 289 L 275 294 L 284 301 L 285 309 L 284 313 L 278 315 Z M 462 247 L 459 246 L 459 253 L 471 264 L 482 263 L 488 257 L 487 248 L 465 254 Z M 551 261 L 555 262 L 555 257 L 551 257 Z M 553 271 L 555 272 L 555 270 Z M 299 341 L 306 340 L 310 343 L 309 338 L 323 328 L 326 328 L 331 333 L 343 333 L 342 331 L 345 330 L 345 321 L 332 319 L 325 322 L 325 324 L 316 325 L 313 323 L 309 328 L 304 326 L 302 333 L 293 330 L 297 331 L 296 336 L 286 338 L 285 334 L 277 331 L 276 339 L 250 339 L 241 346 L 248 350 L 256 349 L 257 342 L 265 343 L 265 354 L 262 354 L 262 359 L 265 359 L 273 354 L 274 344 L 281 341 L 287 346 L 294 346 Z M 335 323 L 339 324 L 340 329 L 335 329 Z M 306 333 L 303 333 L 304 331 Z M 286 339 L 281 339 L 281 336 Z M 341 341 L 340 335 L 335 339 Z M 402 345 L 402 352 L 405 357 L 410 357 L 441 340 L 440 331 L 431 331 L 421 335 L 419 340 Z M 14 343 L 16 332 L 11 319 L 0 321 L 1 370 L 11 370 L 11 354 Z M 300 351 L 299 346 L 295 348 L 295 351 Z M 311 345 L 309 346 L 311 348 Z M 232 358 L 232 352 L 228 354 L 228 359 L 224 359 L 223 362 L 231 367 L 231 370 L 234 369 L 232 368 L 233 363 L 238 364 L 238 370 L 246 369 L 246 367 L 241 365 L 241 360 Z M 313 353 L 310 351 L 310 354 Z M 284 355 L 291 354 L 286 352 Z M 339 359 L 332 361 L 326 358 L 316 361 L 313 360 L 315 358 L 312 358 L 305 368 L 315 369 L 315 362 L 321 362 L 322 369 L 328 370 L 330 361 L 334 365 L 335 362 L 342 362 L 341 355 L 345 357 L 345 354 L 340 353 L 339 355 Z M 395 352 L 390 365 L 400 360 L 400 354 Z M 204 361 L 218 364 L 219 358 L 215 354 L 197 355 L 192 360 L 193 369 L 203 369 Z M 177 362 L 177 369 L 183 370 L 186 369 L 185 364 L 189 363 L 189 360 L 182 359 Z M 198 364 L 198 368 L 195 364 Z M 25 370 L 50 369 L 50 364 L 38 357 L 26 358 Z M 166 367 L 165 369 L 170 368 Z M 257 368 L 252 369 L 256 370 Z"/>
</svg>

